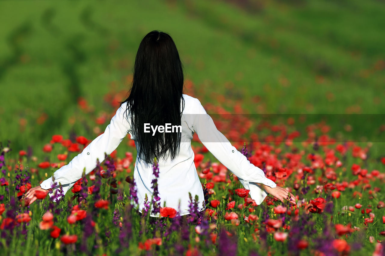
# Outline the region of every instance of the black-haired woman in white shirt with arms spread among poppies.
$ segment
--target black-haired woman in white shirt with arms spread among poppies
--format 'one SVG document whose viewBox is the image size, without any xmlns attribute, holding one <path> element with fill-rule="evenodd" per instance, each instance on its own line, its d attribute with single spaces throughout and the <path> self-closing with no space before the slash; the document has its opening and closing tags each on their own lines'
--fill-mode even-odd
<svg viewBox="0 0 385 256">
<path fill-rule="evenodd" d="M 198 210 L 203 210 L 203 189 L 191 149 L 192 135 L 196 132 L 203 145 L 250 190 L 250 196 L 257 204 L 267 194 L 295 203 L 293 194 L 266 178 L 261 169 L 251 164 L 216 129 L 198 99 L 182 94 L 183 80 L 182 63 L 170 35 L 157 30 L 148 33 L 139 45 L 128 98 L 120 103 L 104 133 L 68 165 L 55 171 L 55 182 L 62 184 L 64 193 L 82 177 L 84 168 L 86 174 L 92 171 L 97 158 L 102 162 L 104 153 L 109 155 L 129 133 L 137 149 L 134 179 L 139 209 L 144 208 L 146 193 L 151 198 L 151 164 L 156 157 L 161 206 L 166 202 L 167 207 L 180 209 L 180 215 L 189 214 L 190 192 L 193 197 L 198 195 Z M 39 190 L 50 190 L 52 197 L 58 187 L 52 188 L 52 178 L 48 178 L 40 186 L 30 189 L 26 197 L 32 203 Z"/>
</svg>

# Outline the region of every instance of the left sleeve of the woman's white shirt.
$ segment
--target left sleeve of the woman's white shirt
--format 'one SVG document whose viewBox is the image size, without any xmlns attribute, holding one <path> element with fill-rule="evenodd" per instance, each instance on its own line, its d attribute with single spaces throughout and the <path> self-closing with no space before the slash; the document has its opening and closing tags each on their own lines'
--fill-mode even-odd
<svg viewBox="0 0 385 256">
<path fill-rule="evenodd" d="M 104 133 L 95 138 L 83 149 L 82 153 L 75 156 L 67 165 L 55 171 L 53 174 L 55 181 L 52 181 L 52 177 L 50 177 L 43 181 L 40 187 L 47 190 L 54 188 L 54 182 L 61 183 L 65 194 L 77 180 L 82 178 L 84 168 L 87 175 L 95 169 L 98 158 L 100 163 L 104 161 L 104 153 L 107 153 L 107 155 L 112 153 L 131 130 L 127 116 L 124 114 L 126 107 L 127 102 L 117 109 Z M 58 189 L 58 186 L 55 189 Z M 55 189 L 49 193 L 51 197 Z"/>
</svg>

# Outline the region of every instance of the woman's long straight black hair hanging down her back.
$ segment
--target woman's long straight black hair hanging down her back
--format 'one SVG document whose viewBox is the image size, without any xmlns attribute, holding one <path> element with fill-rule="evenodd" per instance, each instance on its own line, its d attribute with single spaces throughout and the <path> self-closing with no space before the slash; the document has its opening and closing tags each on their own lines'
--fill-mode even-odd
<svg viewBox="0 0 385 256">
<path fill-rule="evenodd" d="M 142 39 L 136 53 L 133 79 L 127 101 L 137 158 L 153 163 L 154 157 L 174 160 L 179 153 L 181 133 L 144 133 L 150 125 L 181 125 L 184 109 L 183 67 L 174 41 L 168 33 L 153 30 Z M 182 111 L 181 111 L 182 102 Z M 178 130 L 179 131 L 179 130 Z"/>
</svg>

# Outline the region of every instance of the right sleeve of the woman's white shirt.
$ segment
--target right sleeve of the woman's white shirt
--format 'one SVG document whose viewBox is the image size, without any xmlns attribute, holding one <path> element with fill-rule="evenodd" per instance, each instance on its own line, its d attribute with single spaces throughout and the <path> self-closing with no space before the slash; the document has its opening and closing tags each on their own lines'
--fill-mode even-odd
<svg viewBox="0 0 385 256">
<path fill-rule="evenodd" d="M 218 161 L 238 177 L 246 189 L 250 190 L 251 198 L 257 204 L 261 204 L 268 193 L 258 183 L 271 188 L 275 188 L 277 185 L 274 181 L 266 178 L 263 170 L 250 163 L 246 156 L 231 145 L 229 140 L 218 131 L 214 121 L 206 113 L 200 101 L 196 100 L 197 110 L 194 112 L 198 114 L 195 114 L 193 118 L 192 128 L 198 134 L 199 140 Z"/>
</svg>

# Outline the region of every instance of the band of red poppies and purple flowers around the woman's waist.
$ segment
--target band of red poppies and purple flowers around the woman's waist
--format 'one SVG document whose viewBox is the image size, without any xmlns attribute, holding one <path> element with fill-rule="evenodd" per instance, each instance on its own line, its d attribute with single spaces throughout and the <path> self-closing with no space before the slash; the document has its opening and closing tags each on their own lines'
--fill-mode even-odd
<svg viewBox="0 0 385 256">
<path fill-rule="evenodd" d="M 105 97 L 111 115 L 90 120 L 95 137 L 114 115 L 117 95 Z M 85 100 L 78 107 L 74 120 L 91 115 Z M 253 129 L 258 122 L 241 129 L 245 120 L 214 121 L 266 177 L 295 194 L 296 205 L 271 196 L 257 205 L 236 176 L 194 139 L 194 163 L 205 198 L 191 195 L 193 213 L 187 218 L 176 216 L 178 209 L 162 207 L 154 163 L 154 196 L 149 195 L 140 214 L 132 178 L 136 151 L 127 137 L 121 143 L 127 149 L 124 157 L 115 150 L 64 197 L 57 193 L 53 201 L 45 193 L 36 194 L 38 200 L 25 206 L 23 196 L 31 186 L 93 139 L 53 135 L 43 148 L 1 148 L 1 250 L 5 255 L 383 255 L 385 158 L 370 159 L 376 143 L 339 143 L 328 135 L 325 123 L 308 125 L 306 139 L 299 141 L 291 118 L 279 125 L 264 122 L 259 133 Z M 234 125 L 226 130 L 228 122 Z M 248 138 L 253 140 L 246 143 Z M 205 201 L 206 211 L 194 212 L 198 200 Z M 150 212 L 162 218 L 150 217 Z"/>
</svg>

